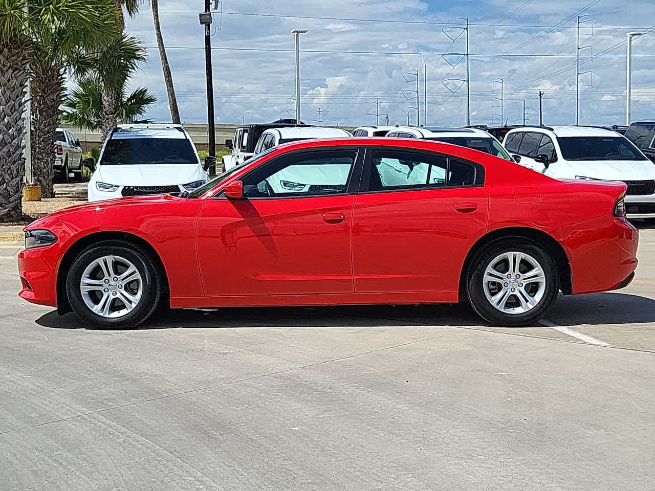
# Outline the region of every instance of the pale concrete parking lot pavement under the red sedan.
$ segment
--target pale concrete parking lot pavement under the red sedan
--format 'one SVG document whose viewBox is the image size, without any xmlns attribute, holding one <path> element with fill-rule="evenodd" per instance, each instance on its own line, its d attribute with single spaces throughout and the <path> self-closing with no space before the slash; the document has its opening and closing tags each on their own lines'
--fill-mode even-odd
<svg viewBox="0 0 655 491">
<path fill-rule="evenodd" d="M 0 244 L 0 490 L 655 488 L 655 230 L 544 322 L 466 305 L 160 312 L 22 302 Z"/>
</svg>

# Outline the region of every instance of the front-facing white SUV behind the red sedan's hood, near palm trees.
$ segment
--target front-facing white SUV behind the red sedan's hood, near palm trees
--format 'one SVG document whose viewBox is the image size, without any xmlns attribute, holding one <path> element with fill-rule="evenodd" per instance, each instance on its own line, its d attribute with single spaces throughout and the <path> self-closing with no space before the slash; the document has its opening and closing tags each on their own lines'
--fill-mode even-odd
<svg viewBox="0 0 655 491">
<path fill-rule="evenodd" d="M 121 124 L 107 136 L 88 182 L 88 200 L 178 194 L 209 181 L 212 157 L 200 162 L 179 124 Z"/>
</svg>

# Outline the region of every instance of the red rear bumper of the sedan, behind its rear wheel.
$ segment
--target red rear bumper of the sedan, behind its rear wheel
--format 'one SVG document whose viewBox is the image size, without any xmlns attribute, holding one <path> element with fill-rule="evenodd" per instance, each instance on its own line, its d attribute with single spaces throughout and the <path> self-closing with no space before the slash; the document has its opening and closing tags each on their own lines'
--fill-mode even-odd
<svg viewBox="0 0 655 491">
<path fill-rule="evenodd" d="M 637 268 L 639 232 L 610 215 L 558 230 L 570 256 L 572 293 L 626 287 Z"/>
</svg>

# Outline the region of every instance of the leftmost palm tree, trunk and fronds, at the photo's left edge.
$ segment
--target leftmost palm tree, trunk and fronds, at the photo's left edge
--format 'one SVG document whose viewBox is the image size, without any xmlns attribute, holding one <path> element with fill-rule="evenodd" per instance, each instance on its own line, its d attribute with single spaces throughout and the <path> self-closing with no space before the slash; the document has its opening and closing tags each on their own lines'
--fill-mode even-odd
<svg viewBox="0 0 655 491">
<path fill-rule="evenodd" d="M 23 215 L 29 54 L 26 0 L 0 0 L 0 221 L 20 220 Z"/>
</svg>

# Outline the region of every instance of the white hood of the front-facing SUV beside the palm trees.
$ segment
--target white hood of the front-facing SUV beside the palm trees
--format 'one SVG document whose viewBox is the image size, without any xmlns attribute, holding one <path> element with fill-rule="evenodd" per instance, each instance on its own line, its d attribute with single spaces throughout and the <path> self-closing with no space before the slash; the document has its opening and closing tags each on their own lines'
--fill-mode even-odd
<svg viewBox="0 0 655 491">
<path fill-rule="evenodd" d="M 200 164 L 102 165 L 94 181 L 118 186 L 168 186 L 207 180 Z"/>
</svg>

